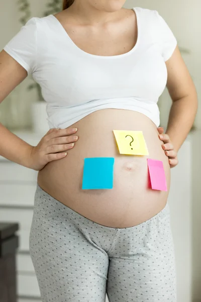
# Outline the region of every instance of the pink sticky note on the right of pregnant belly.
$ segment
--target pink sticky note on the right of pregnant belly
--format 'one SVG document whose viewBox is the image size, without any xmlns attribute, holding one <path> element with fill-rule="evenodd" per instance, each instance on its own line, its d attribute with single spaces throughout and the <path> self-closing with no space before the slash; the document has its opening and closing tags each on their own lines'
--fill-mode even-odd
<svg viewBox="0 0 201 302">
<path fill-rule="evenodd" d="M 147 159 L 151 188 L 153 190 L 167 191 L 163 162 Z"/>
</svg>

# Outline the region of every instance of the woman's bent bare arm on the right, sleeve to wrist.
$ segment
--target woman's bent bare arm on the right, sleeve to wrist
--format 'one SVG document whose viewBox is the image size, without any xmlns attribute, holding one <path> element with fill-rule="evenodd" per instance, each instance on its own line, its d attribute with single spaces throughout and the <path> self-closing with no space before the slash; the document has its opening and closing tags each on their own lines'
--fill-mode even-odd
<svg viewBox="0 0 201 302">
<path fill-rule="evenodd" d="M 197 93 L 178 46 L 166 61 L 166 67 L 167 89 L 172 99 L 166 134 L 178 152 L 194 122 Z"/>
</svg>

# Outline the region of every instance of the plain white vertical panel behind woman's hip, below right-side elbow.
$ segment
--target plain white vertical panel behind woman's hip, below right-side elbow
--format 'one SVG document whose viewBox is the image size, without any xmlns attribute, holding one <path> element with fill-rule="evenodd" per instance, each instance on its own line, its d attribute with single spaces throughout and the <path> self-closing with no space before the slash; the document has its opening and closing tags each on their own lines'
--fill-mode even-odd
<svg viewBox="0 0 201 302">
<path fill-rule="evenodd" d="M 181 146 L 179 165 L 171 169 L 171 187 L 168 196 L 171 229 L 174 240 L 177 276 L 177 301 L 192 301 L 192 208 L 191 135 Z M 185 171 L 186 173 L 183 173 Z"/>
</svg>

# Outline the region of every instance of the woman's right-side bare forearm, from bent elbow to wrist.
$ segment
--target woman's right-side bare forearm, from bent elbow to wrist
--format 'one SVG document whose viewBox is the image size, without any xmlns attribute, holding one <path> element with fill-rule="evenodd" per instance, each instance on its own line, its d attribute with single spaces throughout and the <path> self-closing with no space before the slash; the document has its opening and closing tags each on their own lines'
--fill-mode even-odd
<svg viewBox="0 0 201 302">
<path fill-rule="evenodd" d="M 180 146 L 189 133 L 193 125 L 196 112 L 196 93 L 173 102 L 169 113 L 166 133 L 169 135 L 176 152 L 178 152 Z"/>
</svg>

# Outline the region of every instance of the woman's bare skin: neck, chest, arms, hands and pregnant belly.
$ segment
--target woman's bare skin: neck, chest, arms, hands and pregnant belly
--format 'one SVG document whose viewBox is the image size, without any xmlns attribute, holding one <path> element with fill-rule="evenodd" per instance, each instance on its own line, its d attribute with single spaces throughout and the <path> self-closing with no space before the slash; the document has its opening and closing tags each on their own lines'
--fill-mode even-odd
<svg viewBox="0 0 201 302">
<path fill-rule="evenodd" d="M 80 49 L 97 55 L 121 54 L 132 49 L 137 38 L 137 29 L 133 27 L 133 12 L 131 12 L 131 10 L 121 9 L 124 3 L 125 1 L 120 0 L 98 0 L 96 3 L 93 0 L 75 0 L 74 4 L 69 9 L 56 14 L 55 17 Z M 110 33 L 109 40 L 107 40 L 108 33 Z M 88 35 L 90 35 L 91 44 L 86 43 Z M 102 41 L 105 41 L 105 43 Z M 118 43 L 115 43 L 114 41 L 118 41 Z M 122 112 L 118 111 L 118 114 L 121 113 L 120 118 L 128 121 L 130 126 L 136 121 L 135 127 L 141 127 L 141 129 L 144 127 L 143 131 L 145 131 L 145 139 L 148 143 L 151 156 L 156 156 L 154 146 L 161 146 L 163 148 L 163 154 L 161 153 L 161 150 L 157 151 L 157 159 L 163 161 L 166 177 L 169 182 L 169 172 L 166 160 L 168 158 L 170 167 L 174 167 L 178 163 L 178 149 L 187 136 L 196 114 L 197 95 L 178 47 L 176 47 L 171 58 L 166 61 L 165 64 L 168 73 L 167 89 L 172 98 L 172 107 L 166 133 L 163 133 L 163 129 L 159 128 L 157 131 L 155 125 L 153 125 L 148 118 L 145 118 L 139 113 L 131 113 L 122 110 Z M 0 53 L 0 102 L 3 101 L 26 77 L 26 70 L 3 50 Z M 105 114 L 107 115 L 107 112 L 105 112 Z M 112 114 L 113 111 L 111 111 L 110 116 L 112 116 Z M 105 225 L 109 225 L 110 223 L 109 226 L 114 227 L 128 227 L 141 223 L 152 217 L 165 206 L 167 195 L 160 194 L 160 200 L 162 200 L 162 202 L 160 202 L 160 206 L 158 206 L 159 199 L 157 198 L 159 198 L 159 194 L 152 190 L 151 195 L 153 196 L 153 200 L 151 200 L 150 194 L 144 188 L 143 192 L 145 195 L 142 196 L 142 200 L 147 200 L 147 196 L 150 198 L 148 199 L 148 203 L 143 204 L 141 201 L 137 202 L 134 200 L 134 202 L 133 199 L 129 197 L 133 196 L 132 191 L 129 192 L 129 190 L 125 189 L 126 193 L 130 194 L 128 195 L 128 198 L 125 196 L 125 200 L 128 200 L 128 204 L 127 206 L 124 206 L 122 205 L 122 200 L 118 201 L 116 199 L 116 212 L 114 211 L 112 202 L 111 208 L 108 204 L 108 200 L 114 200 L 114 198 L 116 198 L 116 196 L 112 195 L 114 190 L 112 190 L 113 192 L 107 191 L 103 193 L 103 196 L 109 194 L 106 196 L 106 200 L 103 200 L 102 197 L 99 200 L 98 194 L 94 195 L 97 205 L 102 202 L 102 209 L 108 207 L 107 213 L 109 220 L 105 220 L 104 218 L 106 214 L 105 211 L 101 213 L 102 209 L 94 208 L 93 200 L 90 200 L 91 196 L 89 196 L 92 192 L 90 192 L 90 194 L 87 193 L 89 195 L 81 192 L 81 190 L 76 192 L 76 202 L 74 201 L 73 203 L 70 203 L 70 196 L 66 196 L 66 191 L 70 191 L 66 190 L 66 183 L 72 181 L 71 187 L 73 188 L 73 184 L 77 181 L 78 174 L 75 173 L 74 179 L 72 180 L 73 175 L 68 175 L 68 169 L 65 169 L 65 171 L 63 169 L 64 167 L 68 167 L 70 171 L 74 169 L 71 164 L 75 159 L 79 160 L 80 150 L 83 150 L 82 146 L 84 146 L 84 141 L 86 141 L 86 137 L 84 136 L 86 135 L 85 132 L 90 132 L 92 138 L 95 139 L 93 129 L 91 130 L 87 125 L 89 122 L 97 122 L 98 120 L 99 123 L 103 120 L 102 110 L 84 118 L 67 129 L 50 129 L 47 134 L 42 137 L 37 146 L 27 144 L 0 124 L 0 141 L 4 141 L 4 144 L 0 143 L 0 154 L 13 162 L 39 171 L 38 182 L 46 192 L 71 208 L 74 207 L 74 210 L 77 210 L 91 220 Z M 72 128 L 78 128 L 78 131 L 72 130 Z M 151 136 L 146 133 L 147 129 L 152 131 Z M 100 131 L 99 135 L 102 134 L 102 130 L 102 128 L 97 128 L 97 131 Z M 104 131 L 104 137 L 107 138 L 107 135 L 109 135 L 108 131 L 112 131 L 112 125 L 111 128 L 106 128 Z M 75 134 L 77 134 L 76 136 L 78 136 L 78 138 L 73 140 Z M 161 134 L 163 136 L 159 137 L 161 142 L 159 143 L 156 139 L 156 135 L 158 138 L 158 135 Z M 106 141 L 109 141 L 109 139 L 106 139 Z M 73 142 L 75 142 L 75 144 L 74 146 L 71 146 L 71 143 Z M 87 143 L 88 152 L 90 152 L 90 141 Z M 114 145 L 111 144 L 108 145 L 108 147 L 112 152 Z M 106 148 L 104 148 L 104 150 L 105 149 Z M 87 153 L 87 148 L 84 152 L 83 156 Z M 94 150 L 94 152 L 96 152 L 96 150 Z M 106 150 L 104 152 L 106 152 Z M 116 151 L 114 150 L 115 156 L 118 157 L 115 152 Z M 67 153 L 67 156 L 65 153 Z M 126 158 L 124 156 L 122 156 L 121 159 L 118 158 L 116 161 L 117 176 L 122 175 L 123 173 L 125 179 L 127 179 L 128 173 L 133 173 L 131 182 L 133 185 L 133 180 L 137 177 L 137 174 L 135 173 L 142 173 L 141 178 L 143 180 L 143 172 L 137 170 L 141 169 L 140 159 L 136 158 L 133 162 L 134 164 L 129 161 L 125 164 L 125 161 Z M 126 165 L 124 170 L 122 165 Z M 80 167 L 78 167 L 77 171 L 80 171 Z M 76 169 L 74 169 L 74 171 L 75 170 Z M 54 174 L 58 175 L 58 179 L 51 179 Z M 128 178 L 128 181 L 129 179 L 130 178 Z M 125 183 L 125 188 L 127 183 Z M 70 189 L 70 187 L 68 189 Z M 137 189 L 137 187 L 133 189 L 134 193 L 137 192 Z M 73 194 L 75 193 L 72 192 L 72 196 L 74 196 Z M 96 194 L 96 192 L 94 192 L 94 194 Z M 121 192 L 117 195 L 121 197 Z M 139 194 L 136 196 L 139 196 Z M 85 205 L 84 207 L 81 207 L 79 203 L 80 200 Z M 113 216 L 113 214 L 116 216 Z"/>
</svg>

